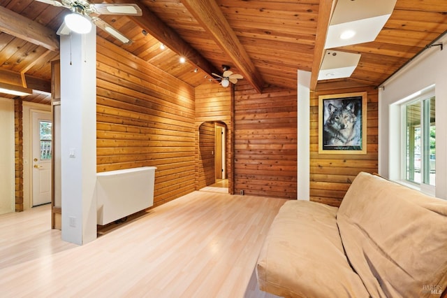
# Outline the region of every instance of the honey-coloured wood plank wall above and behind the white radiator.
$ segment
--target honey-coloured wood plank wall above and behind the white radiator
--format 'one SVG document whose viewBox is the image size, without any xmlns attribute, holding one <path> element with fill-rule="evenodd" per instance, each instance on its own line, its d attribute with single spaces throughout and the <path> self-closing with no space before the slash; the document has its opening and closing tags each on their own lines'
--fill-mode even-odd
<svg viewBox="0 0 447 298">
<path fill-rule="evenodd" d="M 194 190 L 193 87 L 97 41 L 97 171 L 156 166 L 154 206 Z"/>
</svg>

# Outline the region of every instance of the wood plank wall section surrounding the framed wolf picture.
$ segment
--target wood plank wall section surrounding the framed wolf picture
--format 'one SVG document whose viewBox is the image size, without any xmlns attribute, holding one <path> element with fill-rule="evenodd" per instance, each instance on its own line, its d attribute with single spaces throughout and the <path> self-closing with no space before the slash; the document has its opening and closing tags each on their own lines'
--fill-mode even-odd
<svg viewBox="0 0 447 298">
<path fill-rule="evenodd" d="M 318 154 L 318 96 L 364 91 L 367 92 L 367 154 Z M 377 172 L 378 92 L 374 88 L 313 92 L 310 113 L 310 199 L 339 206 L 360 171 Z"/>
</svg>

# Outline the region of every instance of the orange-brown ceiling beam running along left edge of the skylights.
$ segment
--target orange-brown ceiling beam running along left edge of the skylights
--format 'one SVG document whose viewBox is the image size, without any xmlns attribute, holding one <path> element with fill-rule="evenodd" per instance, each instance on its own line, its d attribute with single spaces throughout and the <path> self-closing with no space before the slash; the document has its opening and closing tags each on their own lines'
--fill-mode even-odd
<svg viewBox="0 0 447 298">
<path fill-rule="evenodd" d="M 310 76 L 310 90 L 316 90 L 318 83 L 318 73 L 320 72 L 321 63 L 323 63 L 324 45 L 326 43 L 326 35 L 328 34 L 330 16 L 335 8 L 337 0 L 320 0 L 318 7 L 318 22 L 316 24 L 316 37 L 314 47 L 314 63 L 312 64 L 312 73 Z"/>
</svg>

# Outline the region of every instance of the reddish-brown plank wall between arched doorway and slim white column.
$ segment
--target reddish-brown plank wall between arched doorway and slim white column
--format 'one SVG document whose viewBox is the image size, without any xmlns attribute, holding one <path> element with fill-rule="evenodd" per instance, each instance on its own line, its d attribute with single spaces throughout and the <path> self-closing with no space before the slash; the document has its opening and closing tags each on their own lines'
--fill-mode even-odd
<svg viewBox="0 0 447 298">
<path fill-rule="evenodd" d="M 296 199 L 297 91 L 235 86 L 235 193 Z"/>
</svg>

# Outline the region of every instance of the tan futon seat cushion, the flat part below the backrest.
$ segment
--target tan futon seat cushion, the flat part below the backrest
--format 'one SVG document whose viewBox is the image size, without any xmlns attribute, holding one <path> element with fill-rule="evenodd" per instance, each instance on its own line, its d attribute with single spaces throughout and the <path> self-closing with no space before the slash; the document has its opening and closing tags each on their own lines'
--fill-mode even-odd
<svg viewBox="0 0 447 298">
<path fill-rule="evenodd" d="M 259 288 L 283 297 L 368 297 L 344 255 L 336 207 L 287 201 L 258 258 Z"/>
</svg>

